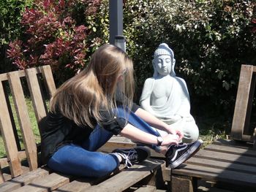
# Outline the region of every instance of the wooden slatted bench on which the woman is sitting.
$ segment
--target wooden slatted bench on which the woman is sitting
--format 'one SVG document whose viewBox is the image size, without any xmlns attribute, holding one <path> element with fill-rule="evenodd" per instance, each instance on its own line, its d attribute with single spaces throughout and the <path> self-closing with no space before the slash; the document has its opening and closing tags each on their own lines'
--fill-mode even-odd
<svg viewBox="0 0 256 192">
<path fill-rule="evenodd" d="M 165 185 L 162 179 L 165 161 L 153 158 L 130 169 L 119 167 L 108 177 L 97 180 L 52 172 L 47 166 L 42 166 L 26 97 L 30 97 L 33 103 L 37 129 L 48 113 L 48 100 L 56 91 L 50 66 L 0 74 L 0 80 L 0 130 L 6 150 L 6 156 L 0 158 L 1 192 L 158 191 L 157 188 Z M 111 148 L 108 144 L 108 150 L 116 146 L 121 147 L 117 144 Z"/>
</svg>

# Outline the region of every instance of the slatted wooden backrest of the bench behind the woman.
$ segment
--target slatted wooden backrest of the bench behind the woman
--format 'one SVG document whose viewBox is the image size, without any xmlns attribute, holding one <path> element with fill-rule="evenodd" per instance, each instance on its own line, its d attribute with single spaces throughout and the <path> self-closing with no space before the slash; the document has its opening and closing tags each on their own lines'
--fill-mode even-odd
<svg viewBox="0 0 256 192">
<path fill-rule="evenodd" d="M 30 171 L 38 167 L 37 144 L 29 118 L 26 97 L 29 95 L 31 98 L 34 115 L 39 124 L 48 112 L 45 99 L 53 95 L 56 86 L 50 66 L 7 72 L 0 74 L 0 80 L 0 130 L 7 153 L 6 158 L 0 159 L 0 165 L 8 163 L 12 177 L 17 177 L 23 174 L 21 166 L 23 158 L 27 159 Z M 48 98 L 45 98 L 46 96 Z M 10 100 L 13 100 L 14 107 L 11 106 Z M 18 138 L 14 114 L 18 118 L 22 138 Z M 23 140 L 24 150 L 21 150 L 20 139 Z M 2 177 L 1 172 L 0 177 Z M 0 181 L 1 179 L 3 180 L 3 177 Z"/>
</svg>

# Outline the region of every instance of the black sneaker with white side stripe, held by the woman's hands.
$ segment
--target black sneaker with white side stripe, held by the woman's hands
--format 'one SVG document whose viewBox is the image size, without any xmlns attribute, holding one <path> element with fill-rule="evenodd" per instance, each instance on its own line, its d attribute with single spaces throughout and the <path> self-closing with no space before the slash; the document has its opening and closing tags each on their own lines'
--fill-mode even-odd
<svg viewBox="0 0 256 192">
<path fill-rule="evenodd" d="M 179 145 L 170 145 L 165 156 L 167 159 L 167 164 L 169 164 L 171 169 L 175 169 L 177 166 L 182 164 L 187 159 L 191 158 L 192 155 L 195 155 L 200 147 L 203 145 L 201 139 L 192 143 L 182 143 Z"/>
</svg>

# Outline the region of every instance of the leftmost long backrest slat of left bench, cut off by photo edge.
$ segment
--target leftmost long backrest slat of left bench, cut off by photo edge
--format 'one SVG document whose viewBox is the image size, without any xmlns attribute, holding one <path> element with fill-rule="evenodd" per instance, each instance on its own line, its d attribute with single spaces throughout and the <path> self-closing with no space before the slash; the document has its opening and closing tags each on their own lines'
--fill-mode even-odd
<svg viewBox="0 0 256 192">
<path fill-rule="evenodd" d="M 15 136 L 12 130 L 12 122 L 10 119 L 7 102 L 4 96 L 4 89 L 0 83 L 0 122 L 1 136 L 4 140 L 4 146 L 9 159 L 10 171 L 12 177 L 17 177 L 22 173 L 21 164 L 18 158 L 18 149 L 15 141 Z"/>
</svg>

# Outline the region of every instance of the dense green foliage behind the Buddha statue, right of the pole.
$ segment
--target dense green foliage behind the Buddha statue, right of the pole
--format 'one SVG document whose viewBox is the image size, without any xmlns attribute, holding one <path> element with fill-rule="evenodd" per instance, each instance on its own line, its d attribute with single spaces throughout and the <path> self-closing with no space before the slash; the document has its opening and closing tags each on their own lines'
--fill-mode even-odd
<svg viewBox="0 0 256 192">
<path fill-rule="evenodd" d="M 154 50 L 166 42 L 175 53 L 177 76 L 187 81 L 192 110 L 230 118 L 241 64 L 256 62 L 255 7 L 231 0 L 125 1 L 124 34 L 138 96 L 153 74 Z"/>
</svg>

